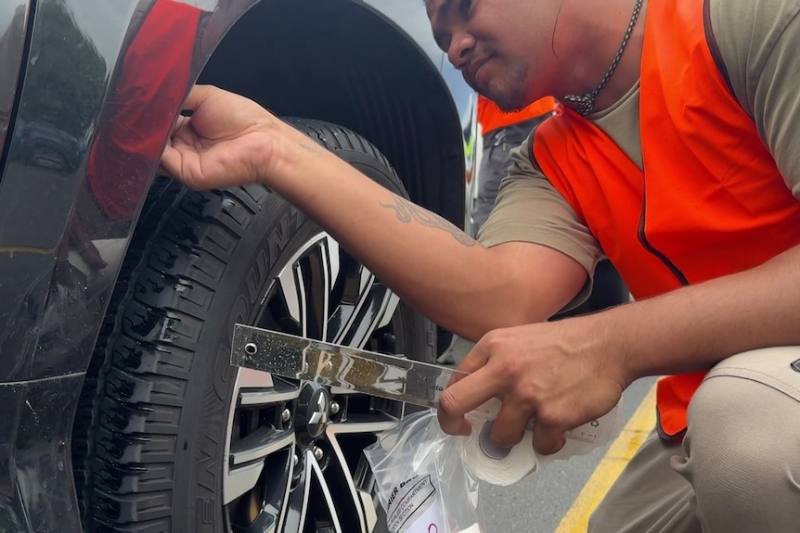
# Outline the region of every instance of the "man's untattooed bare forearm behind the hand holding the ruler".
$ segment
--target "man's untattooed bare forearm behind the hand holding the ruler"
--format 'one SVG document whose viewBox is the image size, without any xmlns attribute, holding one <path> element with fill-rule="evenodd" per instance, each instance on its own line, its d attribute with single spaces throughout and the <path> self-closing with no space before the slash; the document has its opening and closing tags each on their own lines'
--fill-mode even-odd
<svg viewBox="0 0 800 533">
<path fill-rule="evenodd" d="M 800 345 L 800 247 L 754 269 L 584 319 L 629 380 L 702 371 L 733 354 Z"/>
</svg>

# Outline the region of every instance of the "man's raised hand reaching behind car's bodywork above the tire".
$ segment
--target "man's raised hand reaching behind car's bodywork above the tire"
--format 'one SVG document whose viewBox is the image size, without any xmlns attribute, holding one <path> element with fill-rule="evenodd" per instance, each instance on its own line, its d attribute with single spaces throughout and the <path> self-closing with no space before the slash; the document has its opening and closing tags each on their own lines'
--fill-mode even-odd
<svg viewBox="0 0 800 533">
<path fill-rule="evenodd" d="M 257 103 L 217 87 L 196 86 L 161 159 L 161 169 L 192 189 L 255 183 L 281 154 L 283 132 L 296 130 Z"/>
</svg>

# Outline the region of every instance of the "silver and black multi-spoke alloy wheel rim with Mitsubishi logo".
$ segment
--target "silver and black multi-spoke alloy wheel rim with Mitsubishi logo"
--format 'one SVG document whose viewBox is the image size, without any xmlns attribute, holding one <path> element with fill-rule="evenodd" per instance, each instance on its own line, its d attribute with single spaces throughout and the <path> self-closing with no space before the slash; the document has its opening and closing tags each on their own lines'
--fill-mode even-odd
<svg viewBox="0 0 800 533">
<path fill-rule="evenodd" d="M 391 353 L 398 303 L 321 232 L 273 278 L 256 325 Z M 223 465 L 227 530 L 372 532 L 377 504 L 361 450 L 402 412 L 400 402 L 239 369 Z"/>
</svg>

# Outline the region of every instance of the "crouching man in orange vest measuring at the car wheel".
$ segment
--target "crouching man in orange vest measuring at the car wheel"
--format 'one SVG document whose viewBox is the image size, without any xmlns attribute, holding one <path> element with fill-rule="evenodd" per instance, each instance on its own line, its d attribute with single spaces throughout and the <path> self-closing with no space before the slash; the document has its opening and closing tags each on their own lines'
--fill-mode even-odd
<svg viewBox="0 0 800 533">
<path fill-rule="evenodd" d="M 165 168 L 192 187 L 268 183 L 401 297 L 480 339 L 442 397 L 450 433 L 497 397 L 495 442 L 518 442 L 535 418 L 533 446 L 553 453 L 633 380 L 672 376 L 658 435 L 592 531 L 796 531 L 800 2 L 427 6 L 480 93 L 507 109 L 565 103 L 515 154 L 480 243 L 429 214 L 398 218 L 420 211 L 211 88 L 189 98 Z M 600 250 L 638 301 L 544 323 L 586 293 Z"/>
</svg>

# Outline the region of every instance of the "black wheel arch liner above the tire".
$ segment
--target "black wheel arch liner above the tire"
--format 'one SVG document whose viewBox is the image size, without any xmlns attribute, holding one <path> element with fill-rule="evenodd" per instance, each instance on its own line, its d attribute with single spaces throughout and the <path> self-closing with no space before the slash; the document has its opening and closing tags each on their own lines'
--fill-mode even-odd
<svg viewBox="0 0 800 533">
<path fill-rule="evenodd" d="M 266 1 L 233 26 L 199 82 L 245 94 L 280 116 L 363 135 L 412 200 L 463 227 L 468 139 L 434 60 L 362 3 Z"/>
</svg>

